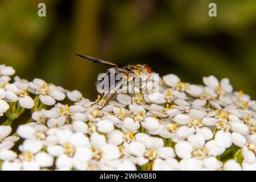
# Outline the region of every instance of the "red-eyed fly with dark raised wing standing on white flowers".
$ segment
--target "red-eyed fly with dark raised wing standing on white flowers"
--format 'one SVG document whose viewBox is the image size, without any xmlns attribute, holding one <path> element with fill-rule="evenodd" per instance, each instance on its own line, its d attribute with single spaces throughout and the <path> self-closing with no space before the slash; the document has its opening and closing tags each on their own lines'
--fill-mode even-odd
<svg viewBox="0 0 256 182">
<path fill-rule="evenodd" d="M 117 65 L 109 61 L 98 59 L 96 57 L 78 55 L 78 54 L 76 55 L 84 59 L 93 61 L 94 63 L 99 63 L 102 65 L 112 67 L 108 69 L 108 72 L 106 72 L 103 77 L 101 77 L 101 80 L 98 79 L 98 81 L 96 82 L 96 89 L 97 89 L 97 92 L 100 93 L 100 96 L 98 97 L 98 101 L 95 104 L 100 102 L 100 100 L 103 97 L 108 96 L 108 94 L 110 94 L 108 101 L 106 101 L 106 103 L 101 107 L 101 109 L 105 107 L 110 100 L 112 100 L 115 94 L 117 94 L 118 90 L 121 90 L 123 88 L 124 84 L 131 85 L 131 89 L 132 89 L 131 92 L 129 91 L 129 86 L 127 88 L 128 88 L 128 93 L 131 93 L 131 103 L 133 103 L 133 94 L 134 94 L 135 85 L 136 86 L 139 85 L 138 86 L 139 93 L 142 93 L 142 89 L 143 89 L 142 85 L 144 83 L 146 83 L 147 85 L 147 81 L 151 78 L 152 70 L 146 64 Z M 112 74 L 113 71 L 114 71 L 114 75 Z M 112 76 L 114 76 L 114 80 Z M 119 76 L 119 79 L 116 79 L 118 76 Z M 106 82 L 105 80 L 108 80 L 108 81 Z"/>
</svg>

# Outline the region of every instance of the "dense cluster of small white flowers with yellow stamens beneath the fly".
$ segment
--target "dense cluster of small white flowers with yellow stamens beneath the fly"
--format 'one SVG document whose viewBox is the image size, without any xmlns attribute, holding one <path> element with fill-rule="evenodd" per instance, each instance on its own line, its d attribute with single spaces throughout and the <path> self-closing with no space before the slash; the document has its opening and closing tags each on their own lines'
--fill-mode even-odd
<svg viewBox="0 0 256 182">
<path fill-rule="evenodd" d="M 256 101 L 228 78 L 192 85 L 170 74 L 100 109 L 108 97 L 92 102 L 39 78 L 10 83 L 14 73 L 0 65 L 1 170 L 256 170 Z M 73 105 L 58 102 L 66 96 Z"/>
</svg>

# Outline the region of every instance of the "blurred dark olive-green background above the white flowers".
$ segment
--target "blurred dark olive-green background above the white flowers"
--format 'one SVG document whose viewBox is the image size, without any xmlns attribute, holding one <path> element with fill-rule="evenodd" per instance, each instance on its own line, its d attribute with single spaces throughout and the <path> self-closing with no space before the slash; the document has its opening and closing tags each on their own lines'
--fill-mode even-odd
<svg viewBox="0 0 256 182">
<path fill-rule="evenodd" d="M 40 2 L 46 18 L 38 16 Z M 208 16 L 210 2 L 217 17 Z M 256 96 L 255 0 L 1 0 L 0 32 L 0 63 L 88 98 L 106 67 L 75 53 L 145 63 L 195 84 L 229 77 L 236 90 Z"/>
</svg>

